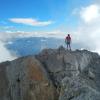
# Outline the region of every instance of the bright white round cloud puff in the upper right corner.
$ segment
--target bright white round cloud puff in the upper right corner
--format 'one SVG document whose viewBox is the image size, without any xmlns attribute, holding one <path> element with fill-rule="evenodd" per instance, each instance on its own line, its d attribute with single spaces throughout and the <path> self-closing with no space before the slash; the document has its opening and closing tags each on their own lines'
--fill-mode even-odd
<svg viewBox="0 0 100 100">
<path fill-rule="evenodd" d="M 80 17 L 86 22 L 93 22 L 100 17 L 100 6 L 96 4 L 81 8 Z"/>
</svg>

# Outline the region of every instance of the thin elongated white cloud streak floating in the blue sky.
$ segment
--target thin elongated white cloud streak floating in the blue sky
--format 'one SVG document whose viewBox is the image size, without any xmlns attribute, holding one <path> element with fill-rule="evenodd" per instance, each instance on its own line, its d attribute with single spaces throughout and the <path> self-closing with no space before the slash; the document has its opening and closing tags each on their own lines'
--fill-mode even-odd
<svg viewBox="0 0 100 100">
<path fill-rule="evenodd" d="M 49 24 L 52 24 L 52 21 L 38 21 L 36 19 L 32 18 L 11 18 L 9 19 L 11 22 L 19 23 L 19 24 L 25 24 L 25 25 L 31 25 L 31 26 L 47 26 Z"/>
</svg>

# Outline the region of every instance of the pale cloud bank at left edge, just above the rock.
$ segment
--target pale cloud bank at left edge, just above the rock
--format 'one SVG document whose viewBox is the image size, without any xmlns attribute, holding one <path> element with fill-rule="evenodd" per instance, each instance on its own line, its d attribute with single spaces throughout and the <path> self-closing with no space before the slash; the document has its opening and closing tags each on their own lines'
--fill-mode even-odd
<svg viewBox="0 0 100 100">
<path fill-rule="evenodd" d="M 17 55 L 6 47 L 6 44 L 10 43 L 9 40 L 16 36 L 17 34 L 11 31 L 0 32 L 0 62 L 17 58 Z"/>
</svg>

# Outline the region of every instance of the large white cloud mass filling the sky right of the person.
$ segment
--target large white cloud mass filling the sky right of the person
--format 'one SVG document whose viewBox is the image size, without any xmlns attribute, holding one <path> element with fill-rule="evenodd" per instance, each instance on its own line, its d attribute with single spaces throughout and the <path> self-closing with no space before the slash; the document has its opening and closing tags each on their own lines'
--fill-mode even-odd
<svg viewBox="0 0 100 100">
<path fill-rule="evenodd" d="M 91 4 L 82 7 L 79 17 L 80 25 L 73 32 L 74 42 L 100 54 L 100 5 Z"/>
</svg>

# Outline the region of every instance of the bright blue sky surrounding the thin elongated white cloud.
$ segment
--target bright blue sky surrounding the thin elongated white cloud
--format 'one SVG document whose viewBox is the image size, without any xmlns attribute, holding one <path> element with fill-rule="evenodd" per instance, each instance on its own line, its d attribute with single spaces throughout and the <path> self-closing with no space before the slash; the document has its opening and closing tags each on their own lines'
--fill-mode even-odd
<svg viewBox="0 0 100 100">
<path fill-rule="evenodd" d="M 78 17 L 74 9 L 89 5 L 91 0 L 0 0 L 0 26 L 13 26 L 13 30 L 44 31 L 60 27 L 76 28 Z M 34 19 L 46 25 L 27 25 L 10 21 L 11 18 Z M 42 24 L 42 23 L 41 23 Z M 11 29 L 11 28 L 10 28 Z M 1 31 L 7 29 L 1 28 Z"/>
</svg>

